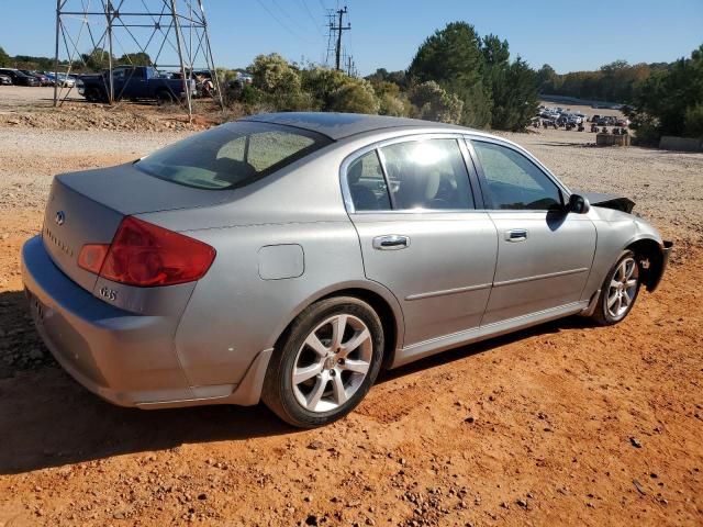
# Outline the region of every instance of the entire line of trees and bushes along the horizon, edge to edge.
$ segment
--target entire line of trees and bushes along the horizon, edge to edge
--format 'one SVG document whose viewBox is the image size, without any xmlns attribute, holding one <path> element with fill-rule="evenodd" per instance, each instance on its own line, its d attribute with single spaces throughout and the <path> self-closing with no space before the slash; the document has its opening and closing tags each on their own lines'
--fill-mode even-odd
<svg viewBox="0 0 703 527">
<path fill-rule="evenodd" d="M 107 68 L 108 53 L 81 55 L 76 69 Z M 113 65 L 148 65 L 143 53 L 112 57 Z M 67 63 L 62 63 L 67 66 Z M 10 57 L 0 47 L 0 66 L 51 70 L 46 57 Z M 76 68 L 76 67 L 75 67 Z M 300 65 L 278 54 L 259 55 L 246 68 L 253 82 L 235 82 L 237 70 L 219 70 L 232 105 L 258 111 L 337 111 L 412 116 L 495 130 L 524 130 L 539 93 L 625 104 L 644 142 L 661 135 L 703 138 L 703 45 L 671 64 L 616 60 L 596 71 L 538 71 L 495 35 L 480 36 L 472 25 L 453 22 L 419 47 L 408 69 L 376 70 L 355 78 L 314 64 Z"/>
</svg>

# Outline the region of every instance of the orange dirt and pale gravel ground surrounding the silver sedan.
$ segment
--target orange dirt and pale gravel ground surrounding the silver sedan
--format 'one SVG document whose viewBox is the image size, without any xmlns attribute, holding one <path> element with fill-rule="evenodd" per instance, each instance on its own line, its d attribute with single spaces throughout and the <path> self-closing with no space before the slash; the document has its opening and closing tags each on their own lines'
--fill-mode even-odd
<svg viewBox="0 0 703 527">
<path fill-rule="evenodd" d="M 511 134 L 677 242 L 661 289 L 615 327 L 558 321 L 386 373 L 357 412 L 299 431 L 264 406 L 118 408 L 55 366 L 18 261 L 52 175 L 190 132 L 36 128 L 3 93 L 0 526 L 703 524 L 703 155 Z"/>
</svg>

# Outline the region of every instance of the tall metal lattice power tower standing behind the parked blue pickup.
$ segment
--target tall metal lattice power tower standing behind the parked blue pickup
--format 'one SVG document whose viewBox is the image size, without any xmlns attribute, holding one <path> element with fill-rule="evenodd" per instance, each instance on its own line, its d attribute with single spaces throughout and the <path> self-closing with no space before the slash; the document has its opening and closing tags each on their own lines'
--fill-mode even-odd
<svg viewBox="0 0 703 527">
<path fill-rule="evenodd" d="M 67 70 L 62 71 L 65 74 L 70 74 L 76 64 L 85 69 L 94 69 L 94 63 L 104 65 L 112 104 L 119 99 L 112 76 L 115 58 L 130 65 L 135 56 L 148 56 L 146 65 L 159 72 L 177 71 L 182 79 L 192 78 L 193 71 L 209 71 L 224 108 L 203 0 L 56 0 L 57 77 L 59 60 L 67 63 Z M 63 103 L 72 89 L 58 83 L 54 88 L 54 105 Z M 186 82 L 189 116 L 192 96 Z"/>
</svg>

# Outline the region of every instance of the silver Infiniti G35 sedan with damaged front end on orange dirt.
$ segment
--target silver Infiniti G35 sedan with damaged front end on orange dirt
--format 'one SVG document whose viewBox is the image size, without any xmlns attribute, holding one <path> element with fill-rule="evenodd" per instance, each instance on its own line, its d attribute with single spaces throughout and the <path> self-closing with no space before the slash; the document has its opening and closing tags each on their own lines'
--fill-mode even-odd
<svg viewBox="0 0 703 527">
<path fill-rule="evenodd" d="M 264 401 L 311 427 L 381 368 L 568 315 L 615 324 L 671 244 L 459 126 L 255 115 L 57 176 L 22 249 L 63 367 L 141 408 Z"/>
</svg>

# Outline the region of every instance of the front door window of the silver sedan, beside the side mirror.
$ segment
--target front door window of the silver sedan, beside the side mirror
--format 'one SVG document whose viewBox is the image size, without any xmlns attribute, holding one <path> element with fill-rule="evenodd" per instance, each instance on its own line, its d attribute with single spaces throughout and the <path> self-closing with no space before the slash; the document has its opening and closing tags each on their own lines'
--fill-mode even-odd
<svg viewBox="0 0 703 527">
<path fill-rule="evenodd" d="M 559 188 L 535 164 L 512 148 L 473 141 L 493 209 L 561 209 Z"/>
</svg>

